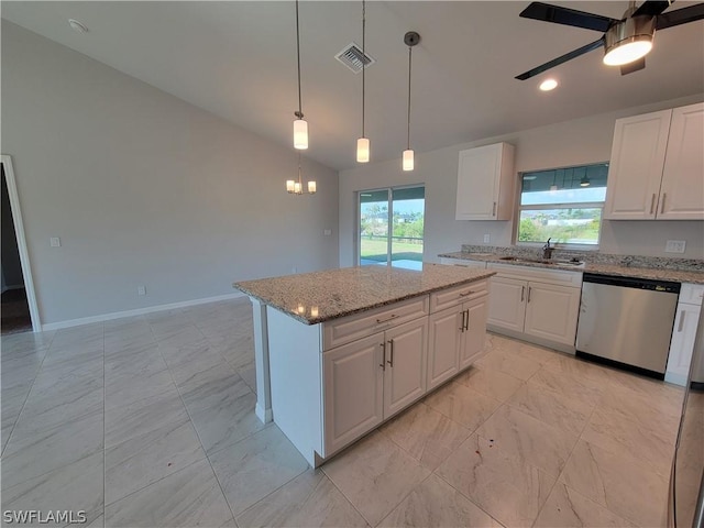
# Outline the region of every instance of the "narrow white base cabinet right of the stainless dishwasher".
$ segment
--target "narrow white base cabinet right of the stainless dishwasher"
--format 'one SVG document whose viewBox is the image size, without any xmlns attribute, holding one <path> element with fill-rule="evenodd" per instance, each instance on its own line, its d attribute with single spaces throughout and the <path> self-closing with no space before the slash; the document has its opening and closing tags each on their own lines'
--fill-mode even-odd
<svg viewBox="0 0 704 528">
<path fill-rule="evenodd" d="M 686 385 L 703 299 L 704 285 L 682 285 L 678 312 L 674 318 L 674 329 L 672 330 L 672 341 L 670 341 L 670 355 L 664 373 L 666 382 Z"/>
</svg>

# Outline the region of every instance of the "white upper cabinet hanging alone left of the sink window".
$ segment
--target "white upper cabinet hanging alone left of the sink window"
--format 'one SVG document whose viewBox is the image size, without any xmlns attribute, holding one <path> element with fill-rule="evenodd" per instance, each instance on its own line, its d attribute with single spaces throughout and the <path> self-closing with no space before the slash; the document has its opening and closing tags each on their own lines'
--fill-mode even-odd
<svg viewBox="0 0 704 528">
<path fill-rule="evenodd" d="M 510 220 L 516 174 L 514 145 L 497 143 L 460 152 L 458 220 Z"/>
</svg>

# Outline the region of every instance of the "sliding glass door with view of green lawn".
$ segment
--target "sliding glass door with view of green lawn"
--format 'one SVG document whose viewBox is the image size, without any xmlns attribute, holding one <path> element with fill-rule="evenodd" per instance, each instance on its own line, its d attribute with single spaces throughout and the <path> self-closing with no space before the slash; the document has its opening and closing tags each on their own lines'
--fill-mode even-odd
<svg viewBox="0 0 704 528">
<path fill-rule="evenodd" d="M 358 263 L 420 270 L 425 204 L 422 186 L 361 191 Z"/>
</svg>

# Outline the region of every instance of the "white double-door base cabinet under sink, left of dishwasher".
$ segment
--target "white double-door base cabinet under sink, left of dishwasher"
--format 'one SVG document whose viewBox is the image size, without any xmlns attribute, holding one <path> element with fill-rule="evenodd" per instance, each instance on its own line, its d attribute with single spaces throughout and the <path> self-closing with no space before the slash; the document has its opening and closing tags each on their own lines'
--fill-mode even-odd
<svg viewBox="0 0 704 528">
<path fill-rule="evenodd" d="M 566 286 L 549 280 L 549 276 L 538 280 L 502 275 L 492 277 L 487 319 L 492 329 L 505 329 L 541 342 L 574 346 L 582 294 L 580 285 Z"/>
</svg>

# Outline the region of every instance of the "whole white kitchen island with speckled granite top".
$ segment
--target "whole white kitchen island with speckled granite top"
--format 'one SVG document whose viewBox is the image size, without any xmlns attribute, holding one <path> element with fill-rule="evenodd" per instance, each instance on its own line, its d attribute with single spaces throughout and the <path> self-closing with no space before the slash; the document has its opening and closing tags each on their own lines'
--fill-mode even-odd
<svg viewBox="0 0 704 528">
<path fill-rule="evenodd" d="M 424 264 L 235 283 L 254 309 L 257 417 L 320 465 L 484 353 L 493 274 Z"/>
</svg>

